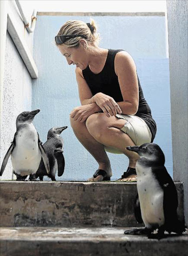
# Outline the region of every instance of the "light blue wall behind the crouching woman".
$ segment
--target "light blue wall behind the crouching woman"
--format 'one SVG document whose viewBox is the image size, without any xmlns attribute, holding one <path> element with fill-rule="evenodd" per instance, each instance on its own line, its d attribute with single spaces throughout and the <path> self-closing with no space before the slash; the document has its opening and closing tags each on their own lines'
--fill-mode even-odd
<svg viewBox="0 0 188 256">
<path fill-rule="evenodd" d="M 125 49 L 135 59 L 145 97 L 158 125 L 154 142 L 166 155 L 166 167 L 173 174 L 169 59 L 167 58 L 165 16 L 93 16 L 99 25 L 100 46 Z M 86 180 L 98 168 L 97 163 L 76 139 L 69 113 L 77 105 L 75 66 L 69 66 L 54 44 L 60 26 L 69 19 L 89 22 L 88 16 L 38 16 L 34 31 L 33 57 L 39 77 L 33 80 L 32 109 L 39 108 L 34 124 L 41 140 L 52 126 L 68 125 L 64 139 L 65 172 L 60 179 Z M 127 169 L 125 155 L 108 153 L 113 177 Z"/>
</svg>

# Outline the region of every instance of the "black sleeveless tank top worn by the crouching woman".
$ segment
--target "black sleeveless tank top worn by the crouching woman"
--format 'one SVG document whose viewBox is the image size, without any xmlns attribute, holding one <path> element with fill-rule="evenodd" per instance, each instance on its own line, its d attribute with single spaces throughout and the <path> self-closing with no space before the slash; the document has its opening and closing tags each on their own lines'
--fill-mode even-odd
<svg viewBox="0 0 188 256">
<path fill-rule="evenodd" d="M 114 68 L 114 59 L 115 59 L 116 53 L 119 51 L 122 51 L 122 50 L 109 49 L 105 65 L 100 73 L 98 74 L 93 73 L 90 70 L 89 65 L 84 70 L 82 70 L 84 79 L 86 80 L 93 95 L 95 95 L 98 92 L 103 92 L 104 94 L 107 94 L 113 97 L 116 102 L 123 101 L 123 96 L 122 96 L 120 85 L 118 82 L 118 76 L 116 75 L 115 68 Z M 157 125 L 154 119 L 152 118 L 151 109 L 146 99 L 144 98 L 139 77 L 138 77 L 138 85 L 139 85 L 139 107 L 135 115 L 141 117 L 147 123 L 152 133 L 152 142 L 153 142 L 156 135 L 156 131 L 157 131 Z"/>
</svg>

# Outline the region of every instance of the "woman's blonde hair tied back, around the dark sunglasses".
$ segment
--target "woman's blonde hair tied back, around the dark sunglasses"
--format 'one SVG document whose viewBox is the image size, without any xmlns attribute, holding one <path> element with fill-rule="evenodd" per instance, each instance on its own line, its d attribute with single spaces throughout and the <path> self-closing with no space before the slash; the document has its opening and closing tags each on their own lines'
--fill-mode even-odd
<svg viewBox="0 0 188 256">
<path fill-rule="evenodd" d="M 99 34 L 96 32 L 97 25 L 93 19 L 91 19 L 90 23 L 85 23 L 81 20 L 68 20 L 65 22 L 61 28 L 59 29 L 59 32 L 57 35 L 63 34 L 82 34 L 85 35 L 87 38 L 86 41 L 90 42 L 93 45 L 99 44 Z M 66 47 L 78 47 L 79 46 L 79 40 L 83 38 L 81 36 L 70 38 L 67 41 L 63 43 Z M 58 45 L 56 43 L 56 45 Z"/>
</svg>

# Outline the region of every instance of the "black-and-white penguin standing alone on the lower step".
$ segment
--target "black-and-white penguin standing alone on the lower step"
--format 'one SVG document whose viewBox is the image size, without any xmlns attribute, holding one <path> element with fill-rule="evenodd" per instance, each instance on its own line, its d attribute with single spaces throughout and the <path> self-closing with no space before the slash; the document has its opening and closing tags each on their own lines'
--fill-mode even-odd
<svg viewBox="0 0 188 256">
<path fill-rule="evenodd" d="M 125 234 L 147 234 L 152 238 L 164 237 L 164 231 L 182 234 L 184 221 L 177 215 L 178 194 L 175 183 L 165 164 L 165 155 L 159 145 L 145 143 L 141 146 L 128 146 L 130 151 L 140 156 L 136 164 L 138 198 L 135 213 L 138 222 L 144 221 L 145 228 L 126 230 Z M 140 208 L 140 209 L 139 209 Z"/>
</svg>

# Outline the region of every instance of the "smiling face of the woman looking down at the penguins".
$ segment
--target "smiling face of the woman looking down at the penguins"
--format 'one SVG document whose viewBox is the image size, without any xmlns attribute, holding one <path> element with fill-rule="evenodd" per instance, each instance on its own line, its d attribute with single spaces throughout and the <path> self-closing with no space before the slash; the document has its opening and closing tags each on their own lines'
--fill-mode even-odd
<svg viewBox="0 0 188 256">
<path fill-rule="evenodd" d="M 88 56 L 86 50 L 84 49 L 84 45 L 82 45 L 81 43 L 77 48 L 66 47 L 62 44 L 59 44 L 58 48 L 63 56 L 66 57 L 69 65 L 76 65 L 82 70 L 84 70 L 88 66 Z"/>
</svg>

